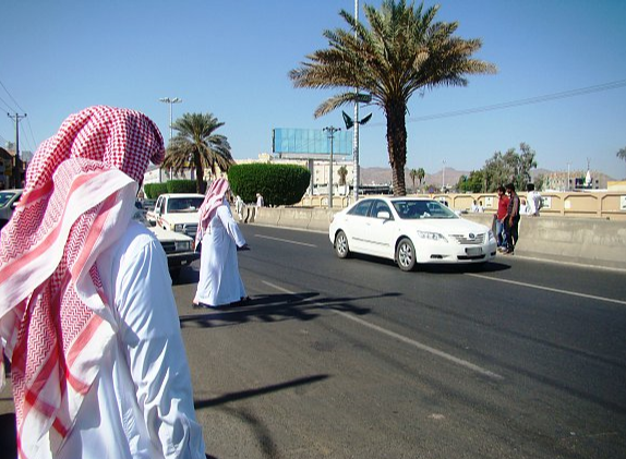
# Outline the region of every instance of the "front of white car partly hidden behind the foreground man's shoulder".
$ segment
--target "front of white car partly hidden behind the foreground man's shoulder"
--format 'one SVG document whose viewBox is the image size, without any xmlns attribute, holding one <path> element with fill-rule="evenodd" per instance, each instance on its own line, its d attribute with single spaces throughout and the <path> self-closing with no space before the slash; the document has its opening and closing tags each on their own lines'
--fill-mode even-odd
<svg viewBox="0 0 626 459">
<path fill-rule="evenodd" d="M 160 227 L 153 227 L 148 224 L 143 210 L 135 210 L 133 220 L 145 225 L 157 237 L 167 255 L 167 264 L 172 279 L 180 276 L 183 266 L 200 258 L 200 253 L 194 250 L 195 241 L 193 238 Z"/>
</svg>

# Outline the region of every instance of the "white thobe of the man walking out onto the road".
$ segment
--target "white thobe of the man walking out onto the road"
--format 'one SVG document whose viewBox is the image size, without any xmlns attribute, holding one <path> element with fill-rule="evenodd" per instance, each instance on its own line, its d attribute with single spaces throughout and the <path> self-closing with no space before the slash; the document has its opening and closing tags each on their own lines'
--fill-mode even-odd
<svg viewBox="0 0 626 459">
<path fill-rule="evenodd" d="M 237 261 L 237 247 L 243 245 L 245 239 L 232 218 L 230 207 L 220 205 L 202 240 L 196 301 L 220 306 L 245 298 Z"/>
</svg>

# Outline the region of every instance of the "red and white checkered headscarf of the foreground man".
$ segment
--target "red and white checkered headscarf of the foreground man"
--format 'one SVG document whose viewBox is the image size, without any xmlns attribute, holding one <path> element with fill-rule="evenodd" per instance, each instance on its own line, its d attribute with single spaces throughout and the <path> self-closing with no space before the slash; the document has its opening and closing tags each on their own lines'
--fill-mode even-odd
<svg viewBox="0 0 626 459">
<path fill-rule="evenodd" d="M 12 357 L 20 457 L 71 431 L 115 335 L 96 259 L 128 228 L 137 182 L 164 158 L 146 116 L 91 107 L 44 142 L 0 233 L 0 333 Z M 0 376 L 3 382 L 3 372 Z"/>
</svg>

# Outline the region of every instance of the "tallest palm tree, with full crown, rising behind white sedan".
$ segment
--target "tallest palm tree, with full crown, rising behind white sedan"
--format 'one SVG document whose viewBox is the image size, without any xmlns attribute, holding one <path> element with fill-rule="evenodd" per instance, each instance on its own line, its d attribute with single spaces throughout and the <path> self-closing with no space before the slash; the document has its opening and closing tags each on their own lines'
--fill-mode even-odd
<svg viewBox="0 0 626 459">
<path fill-rule="evenodd" d="M 458 23 L 435 22 L 437 10 L 438 5 L 425 9 L 423 3 L 416 8 L 406 0 L 384 0 L 380 10 L 364 7 L 370 29 L 341 10 L 350 29 L 325 31 L 329 48 L 314 51 L 289 72 L 296 87 L 344 90 L 322 102 L 315 117 L 362 100 L 354 88 L 369 93 L 371 102 L 384 110 L 395 195 L 406 194 L 406 114 L 411 96 L 437 86 L 467 86 L 467 74 L 496 72 L 495 65 L 471 58 L 481 40 L 454 36 Z"/>
</svg>

